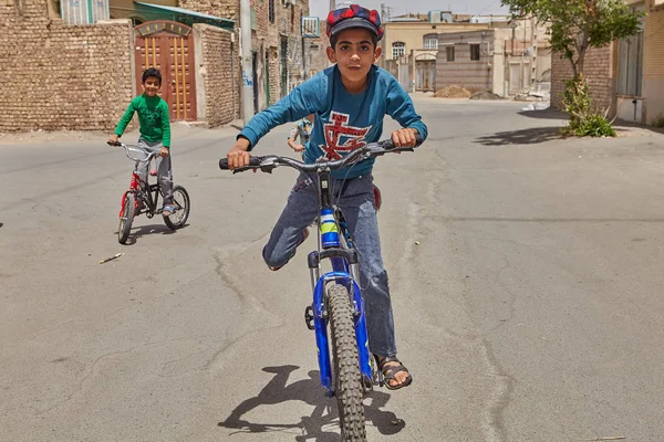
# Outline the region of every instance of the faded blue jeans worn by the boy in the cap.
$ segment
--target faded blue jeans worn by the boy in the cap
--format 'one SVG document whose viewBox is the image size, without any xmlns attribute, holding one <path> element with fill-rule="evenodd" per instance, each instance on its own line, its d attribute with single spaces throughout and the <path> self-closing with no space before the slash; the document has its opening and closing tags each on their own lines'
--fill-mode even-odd
<svg viewBox="0 0 664 442">
<path fill-rule="evenodd" d="M 295 254 L 304 229 L 319 215 L 318 177 L 302 173 L 291 190 L 270 240 L 263 248 L 263 260 L 280 267 Z M 331 199 L 349 224 L 360 255 L 360 287 L 366 308 L 369 346 L 377 356 L 395 356 L 394 318 L 387 272 L 383 269 L 378 221 L 374 204 L 373 177 L 365 175 L 346 180 L 330 179 Z"/>
</svg>

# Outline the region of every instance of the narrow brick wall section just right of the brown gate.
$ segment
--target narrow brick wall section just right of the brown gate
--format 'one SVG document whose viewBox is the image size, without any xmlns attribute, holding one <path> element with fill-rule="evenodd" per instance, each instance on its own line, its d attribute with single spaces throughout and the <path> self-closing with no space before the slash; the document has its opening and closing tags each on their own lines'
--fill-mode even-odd
<svg viewBox="0 0 664 442">
<path fill-rule="evenodd" d="M 230 35 L 219 28 L 194 24 L 198 119 L 210 127 L 240 115 L 239 59 Z"/>
</svg>

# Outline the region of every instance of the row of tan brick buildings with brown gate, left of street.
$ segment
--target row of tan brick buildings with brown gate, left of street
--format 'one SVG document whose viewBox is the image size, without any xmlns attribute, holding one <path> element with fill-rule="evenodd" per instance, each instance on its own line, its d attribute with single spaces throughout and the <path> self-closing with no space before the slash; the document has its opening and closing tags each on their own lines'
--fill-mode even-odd
<svg viewBox="0 0 664 442">
<path fill-rule="evenodd" d="M 85 2 L 70 2 L 79 3 Z M 255 108 L 260 110 L 309 75 L 300 27 L 309 4 L 252 0 L 251 6 Z M 147 4 L 142 7 L 153 13 L 147 22 L 136 20 L 142 13 L 136 8 L 133 18 L 68 24 L 62 8 L 56 0 L 0 3 L 0 29 L 11 31 L 0 33 L 0 93 L 6 98 L 0 131 L 112 130 L 141 91 L 139 73 L 151 65 L 163 72 L 162 96 L 172 119 L 216 126 L 241 116 L 234 29 L 239 0 Z M 174 22 L 174 17 L 189 23 Z"/>
</svg>

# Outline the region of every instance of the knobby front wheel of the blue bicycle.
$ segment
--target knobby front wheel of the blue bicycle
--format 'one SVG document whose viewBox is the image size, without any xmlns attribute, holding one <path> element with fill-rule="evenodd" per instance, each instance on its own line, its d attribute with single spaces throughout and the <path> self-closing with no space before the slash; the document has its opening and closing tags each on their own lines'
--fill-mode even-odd
<svg viewBox="0 0 664 442">
<path fill-rule="evenodd" d="M 364 388 L 355 339 L 353 306 L 349 291 L 334 284 L 328 291 L 330 332 L 334 359 L 334 383 L 343 441 L 366 441 Z"/>
</svg>

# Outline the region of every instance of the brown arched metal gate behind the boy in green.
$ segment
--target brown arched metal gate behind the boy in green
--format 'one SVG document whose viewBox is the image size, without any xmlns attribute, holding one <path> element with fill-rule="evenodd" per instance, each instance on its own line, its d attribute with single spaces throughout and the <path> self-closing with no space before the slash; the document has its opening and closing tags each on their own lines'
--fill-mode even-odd
<svg viewBox="0 0 664 442">
<path fill-rule="evenodd" d="M 136 27 L 136 91 L 142 92 L 143 71 L 162 72 L 162 98 L 168 103 L 170 120 L 196 120 L 194 34 L 191 28 L 158 20 Z"/>
</svg>

